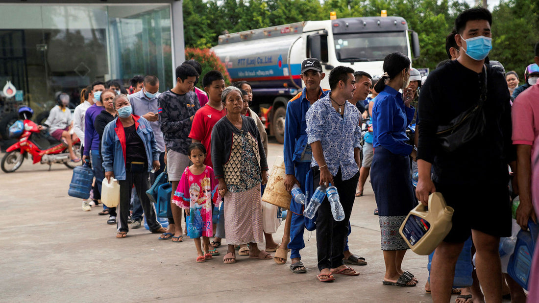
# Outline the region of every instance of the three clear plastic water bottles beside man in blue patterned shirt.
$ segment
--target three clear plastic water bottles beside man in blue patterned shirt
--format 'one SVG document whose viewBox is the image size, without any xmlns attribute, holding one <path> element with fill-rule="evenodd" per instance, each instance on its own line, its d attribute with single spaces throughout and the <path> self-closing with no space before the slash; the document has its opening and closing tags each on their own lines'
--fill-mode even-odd
<svg viewBox="0 0 539 303">
<path fill-rule="evenodd" d="M 305 194 L 301 192 L 301 188 L 297 184 L 294 185 L 294 187 L 292 188 L 291 194 L 294 198 L 294 202 L 305 205 Z M 337 188 L 331 185 L 331 183 L 329 184 L 328 188 L 323 185 L 320 185 L 318 188 L 316 188 L 316 191 L 310 198 L 309 205 L 307 205 L 307 207 L 305 207 L 305 210 L 303 211 L 303 215 L 306 216 L 308 219 L 313 219 L 314 215 L 316 214 L 316 211 L 322 204 L 322 201 L 324 201 L 324 198 L 326 198 L 326 195 L 328 196 L 328 201 L 331 207 L 331 214 L 333 214 L 333 219 L 335 219 L 335 221 L 344 220 L 344 210 L 341 205 L 341 200 L 338 196 Z"/>
</svg>

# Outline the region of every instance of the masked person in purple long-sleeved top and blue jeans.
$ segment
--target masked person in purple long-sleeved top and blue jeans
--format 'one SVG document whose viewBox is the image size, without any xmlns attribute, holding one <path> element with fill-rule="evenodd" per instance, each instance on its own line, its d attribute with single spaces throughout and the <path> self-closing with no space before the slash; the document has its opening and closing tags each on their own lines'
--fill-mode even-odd
<svg viewBox="0 0 539 303">
<path fill-rule="evenodd" d="M 82 154 L 82 161 L 91 160 L 92 169 L 95 174 L 95 186 L 94 186 L 94 199 L 101 199 L 101 182 L 105 178 L 105 173 L 101 167 L 101 156 L 99 154 L 99 134 L 94 128 L 95 117 L 97 117 L 102 110 L 105 110 L 103 103 L 101 102 L 101 92 L 105 90 L 105 82 L 95 81 L 92 83 L 92 91 L 89 97 L 94 100 L 94 104 L 86 110 L 84 117 L 84 153 Z M 108 208 L 103 205 L 103 211 L 99 215 L 108 215 Z M 116 222 L 112 222 L 116 223 Z"/>
</svg>

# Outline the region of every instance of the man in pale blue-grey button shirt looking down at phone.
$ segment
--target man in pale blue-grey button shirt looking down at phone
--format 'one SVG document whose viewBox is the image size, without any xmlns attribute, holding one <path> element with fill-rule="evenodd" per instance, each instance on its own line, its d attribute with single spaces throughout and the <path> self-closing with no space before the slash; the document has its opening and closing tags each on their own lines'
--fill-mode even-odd
<svg viewBox="0 0 539 303">
<path fill-rule="evenodd" d="M 150 178 L 153 180 L 155 176 L 164 170 L 165 167 L 165 142 L 159 125 L 159 117 L 157 116 L 157 97 L 159 97 L 161 93 L 159 93 L 159 79 L 157 79 L 156 76 L 148 75 L 144 77 L 142 84 L 142 89 L 136 93 L 130 94 L 128 99 L 129 103 L 131 103 L 131 107 L 133 108 L 133 114 L 147 119 L 148 122 L 150 122 L 151 130 L 154 131 L 157 149 L 160 151 L 159 161 L 161 163 L 161 168 L 154 174 L 150 173 Z M 139 197 L 134 195 L 132 228 L 140 228 L 142 223 L 142 213 L 142 206 L 140 204 Z"/>
</svg>

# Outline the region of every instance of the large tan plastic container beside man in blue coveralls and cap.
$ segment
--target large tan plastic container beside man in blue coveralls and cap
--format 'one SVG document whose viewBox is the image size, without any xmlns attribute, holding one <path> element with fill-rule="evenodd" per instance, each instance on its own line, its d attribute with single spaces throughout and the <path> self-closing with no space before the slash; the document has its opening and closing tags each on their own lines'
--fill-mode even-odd
<svg viewBox="0 0 539 303">
<path fill-rule="evenodd" d="M 285 189 L 285 179 L 285 160 L 282 157 L 277 157 L 273 163 L 271 174 L 269 174 L 262 201 L 290 209 L 292 195 Z"/>
</svg>

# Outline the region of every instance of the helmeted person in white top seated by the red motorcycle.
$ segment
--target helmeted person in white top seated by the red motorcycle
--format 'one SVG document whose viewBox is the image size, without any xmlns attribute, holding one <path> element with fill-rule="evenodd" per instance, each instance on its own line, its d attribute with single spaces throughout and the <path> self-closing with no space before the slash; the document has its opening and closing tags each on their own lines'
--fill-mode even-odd
<svg viewBox="0 0 539 303">
<path fill-rule="evenodd" d="M 80 162 L 80 158 L 73 152 L 73 144 L 71 140 L 71 111 L 67 108 L 70 97 L 66 93 L 60 93 L 57 98 L 58 106 L 51 109 L 45 125 L 49 126 L 49 133 L 54 139 L 62 141 L 67 144 L 67 150 L 69 151 L 71 161 Z M 43 126 L 39 126 L 39 129 L 43 129 Z"/>
</svg>

